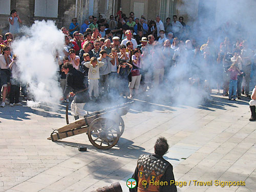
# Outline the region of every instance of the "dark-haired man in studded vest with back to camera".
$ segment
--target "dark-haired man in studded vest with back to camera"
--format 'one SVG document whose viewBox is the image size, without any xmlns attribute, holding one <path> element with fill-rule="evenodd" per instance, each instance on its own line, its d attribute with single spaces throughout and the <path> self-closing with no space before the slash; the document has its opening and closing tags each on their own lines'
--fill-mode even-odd
<svg viewBox="0 0 256 192">
<path fill-rule="evenodd" d="M 137 186 L 130 189 L 131 192 L 176 192 L 177 188 L 173 174 L 173 166 L 163 159 L 163 155 L 168 151 L 169 145 L 164 137 L 159 137 L 154 146 L 155 153 L 150 155 L 140 155 L 137 167 L 133 174 L 133 179 L 137 181 Z M 147 181 L 143 185 L 142 181 Z M 153 182 L 166 181 L 167 185 L 155 185 Z M 174 183 L 170 183 L 173 181 Z"/>
</svg>

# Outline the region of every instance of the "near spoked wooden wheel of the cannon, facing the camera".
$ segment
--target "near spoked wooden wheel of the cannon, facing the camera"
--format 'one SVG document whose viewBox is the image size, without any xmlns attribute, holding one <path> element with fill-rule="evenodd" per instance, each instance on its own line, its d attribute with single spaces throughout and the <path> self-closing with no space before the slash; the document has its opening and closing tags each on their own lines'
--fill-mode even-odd
<svg viewBox="0 0 256 192">
<path fill-rule="evenodd" d="M 99 117 L 90 123 L 88 138 L 93 146 L 106 150 L 115 146 L 120 137 L 118 124 L 108 118 Z"/>
</svg>

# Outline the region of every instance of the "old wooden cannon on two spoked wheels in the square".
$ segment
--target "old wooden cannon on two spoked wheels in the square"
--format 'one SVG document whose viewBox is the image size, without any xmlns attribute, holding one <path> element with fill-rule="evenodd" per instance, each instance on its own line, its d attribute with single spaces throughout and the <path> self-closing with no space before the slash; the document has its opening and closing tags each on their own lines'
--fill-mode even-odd
<svg viewBox="0 0 256 192">
<path fill-rule="evenodd" d="M 123 103 L 113 108 L 88 114 L 84 116 L 84 118 L 54 130 L 51 133 L 51 137 L 48 139 L 57 141 L 59 139 L 87 133 L 90 142 L 97 148 L 111 148 L 115 146 L 123 134 L 124 122 L 121 116 L 127 114 L 131 103 L 132 102 Z"/>
</svg>

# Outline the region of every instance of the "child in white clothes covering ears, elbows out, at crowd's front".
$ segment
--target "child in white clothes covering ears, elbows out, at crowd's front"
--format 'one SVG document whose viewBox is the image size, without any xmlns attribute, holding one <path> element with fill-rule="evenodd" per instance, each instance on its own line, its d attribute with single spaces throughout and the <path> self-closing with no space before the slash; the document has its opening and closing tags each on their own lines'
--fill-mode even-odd
<svg viewBox="0 0 256 192">
<path fill-rule="evenodd" d="M 85 62 L 83 65 L 89 68 L 88 79 L 90 100 L 92 100 L 93 91 L 94 96 L 97 99 L 99 96 L 99 68 L 104 66 L 104 62 L 98 61 L 96 57 L 92 57 L 91 61 Z"/>
</svg>

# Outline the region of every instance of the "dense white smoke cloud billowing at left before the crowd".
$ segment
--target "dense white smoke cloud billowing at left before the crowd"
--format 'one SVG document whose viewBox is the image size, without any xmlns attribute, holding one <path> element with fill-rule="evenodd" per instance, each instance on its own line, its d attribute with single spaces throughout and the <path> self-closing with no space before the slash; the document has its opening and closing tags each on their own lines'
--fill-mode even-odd
<svg viewBox="0 0 256 192">
<path fill-rule="evenodd" d="M 64 35 L 52 20 L 35 21 L 30 28 L 23 28 L 25 35 L 12 44 L 17 56 L 19 78 L 28 82 L 28 91 L 38 106 L 40 102 L 59 103 L 62 96 L 58 83 L 58 63 L 56 54 L 62 53 Z"/>
</svg>

